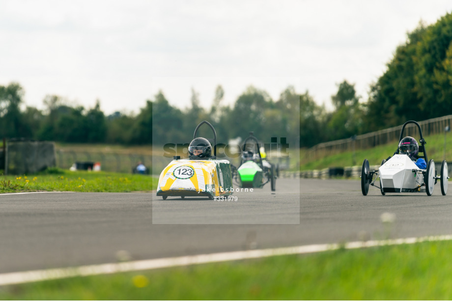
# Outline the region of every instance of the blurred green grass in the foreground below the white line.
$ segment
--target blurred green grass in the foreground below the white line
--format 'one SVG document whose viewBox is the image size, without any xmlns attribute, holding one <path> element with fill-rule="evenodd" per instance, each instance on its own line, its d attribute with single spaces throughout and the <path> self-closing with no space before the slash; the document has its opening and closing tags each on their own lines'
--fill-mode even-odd
<svg viewBox="0 0 452 301">
<path fill-rule="evenodd" d="M 76 277 L 1 300 L 451 300 L 451 241 Z"/>
</svg>

